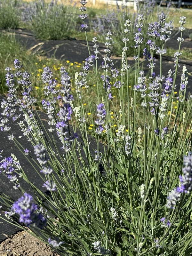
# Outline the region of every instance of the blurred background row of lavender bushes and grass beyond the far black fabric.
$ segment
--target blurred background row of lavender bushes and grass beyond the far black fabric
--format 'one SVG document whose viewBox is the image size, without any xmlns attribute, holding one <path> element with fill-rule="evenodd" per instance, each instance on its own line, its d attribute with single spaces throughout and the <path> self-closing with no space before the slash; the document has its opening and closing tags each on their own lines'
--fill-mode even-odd
<svg viewBox="0 0 192 256">
<path fill-rule="evenodd" d="M 134 35 L 136 33 L 137 13 L 132 8 L 126 6 L 108 6 L 104 5 L 96 10 L 90 8 L 88 12 L 88 40 L 92 41 L 93 36 L 97 36 L 100 43 L 105 42 L 105 36 L 108 31 L 112 33 L 113 41 L 111 43 L 112 53 L 121 56 L 123 42 L 119 38 L 123 38 L 124 22 L 126 19 L 132 21 L 130 26 L 130 45 L 133 44 Z M 165 12 L 167 21 L 172 20 L 173 25 L 178 26 L 179 17 L 189 16 L 188 28 L 191 28 L 191 12 L 188 10 L 181 11 L 173 8 L 162 8 L 155 4 L 155 1 L 148 0 L 140 5 L 138 13 L 145 16 L 143 27 L 144 41 L 147 40 L 148 23 L 157 19 L 161 12 Z M 187 15 L 186 15 L 187 14 Z M 187 17 L 188 18 L 188 17 Z M 76 2 L 52 0 L 47 2 L 41 1 L 15 1 L 3 0 L 0 3 L 0 28 L 25 28 L 31 30 L 36 38 L 45 40 L 60 39 L 84 39 L 82 31 L 80 31 L 81 17 L 78 15 L 78 7 Z M 140 56 L 143 48 L 141 45 Z M 130 47 L 128 56 L 132 56 L 134 48 Z"/>
</svg>

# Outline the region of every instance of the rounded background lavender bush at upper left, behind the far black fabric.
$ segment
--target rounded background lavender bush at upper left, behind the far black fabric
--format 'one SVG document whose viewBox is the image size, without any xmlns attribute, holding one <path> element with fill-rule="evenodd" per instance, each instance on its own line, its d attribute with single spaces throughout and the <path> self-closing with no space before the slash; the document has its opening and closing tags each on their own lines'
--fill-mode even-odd
<svg viewBox="0 0 192 256">
<path fill-rule="evenodd" d="M 23 3 L 20 6 L 21 19 L 41 39 L 69 38 L 76 29 L 76 9 L 66 3 L 44 0 Z"/>
</svg>

